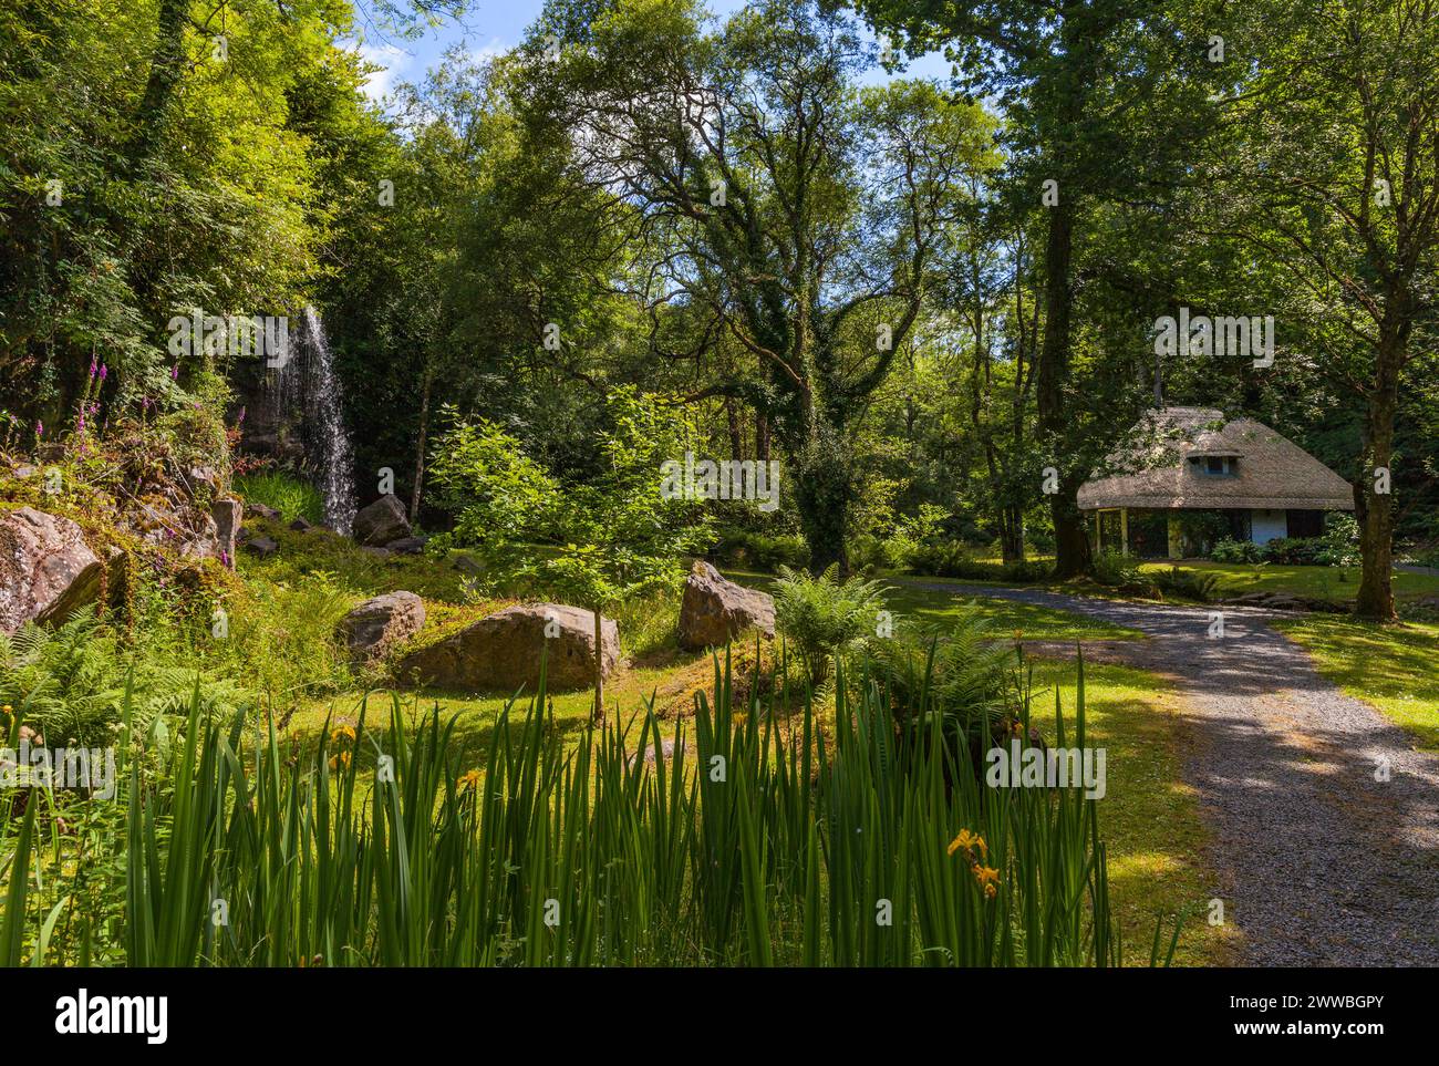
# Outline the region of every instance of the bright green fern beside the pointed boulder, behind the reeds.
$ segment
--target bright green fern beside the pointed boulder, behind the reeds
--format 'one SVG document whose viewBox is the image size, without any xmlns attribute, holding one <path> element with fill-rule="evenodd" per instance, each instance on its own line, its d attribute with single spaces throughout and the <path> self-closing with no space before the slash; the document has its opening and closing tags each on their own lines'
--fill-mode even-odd
<svg viewBox="0 0 1439 1066">
<path fill-rule="evenodd" d="M 771 591 L 774 624 L 794 644 L 816 688 L 829 676 L 836 655 L 858 650 L 875 636 L 885 606 L 878 581 L 840 581 L 833 565 L 819 577 L 780 567 Z"/>
</svg>

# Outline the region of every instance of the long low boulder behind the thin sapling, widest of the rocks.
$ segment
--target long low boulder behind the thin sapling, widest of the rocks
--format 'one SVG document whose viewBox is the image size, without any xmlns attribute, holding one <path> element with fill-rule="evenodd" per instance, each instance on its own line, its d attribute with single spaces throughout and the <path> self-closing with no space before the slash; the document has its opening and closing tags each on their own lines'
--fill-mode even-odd
<svg viewBox="0 0 1439 1066">
<path fill-rule="evenodd" d="M 602 621 L 606 676 L 620 653 L 613 619 Z M 422 685 L 453 689 L 534 691 L 540 656 L 545 656 L 547 688 L 583 689 L 594 676 L 594 614 L 558 603 L 507 607 L 481 619 L 437 644 L 412 652 L 400 662 L 400 676 Z"/>
</svg>

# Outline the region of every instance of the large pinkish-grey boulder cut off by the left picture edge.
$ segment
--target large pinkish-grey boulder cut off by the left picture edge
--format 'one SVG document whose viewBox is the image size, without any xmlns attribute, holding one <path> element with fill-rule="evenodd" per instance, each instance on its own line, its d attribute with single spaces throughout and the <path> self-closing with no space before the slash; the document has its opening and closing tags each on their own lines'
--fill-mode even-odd
<svg viewBox="0 0 1439 1066">
<path fill-rule="evenodd" d="M 62 620 L 94 603 L 105 564 L 68 518 L 23 506 L 0 515 L 0 629 Z"/>
</svg>

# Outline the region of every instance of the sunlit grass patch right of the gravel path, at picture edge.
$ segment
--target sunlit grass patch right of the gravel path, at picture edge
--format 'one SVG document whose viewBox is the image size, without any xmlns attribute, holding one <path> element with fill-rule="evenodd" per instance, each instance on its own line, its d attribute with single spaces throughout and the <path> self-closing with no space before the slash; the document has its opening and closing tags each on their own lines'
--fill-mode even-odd
<svg viewBox="0 0 1439 1066">
<path fill-rule="evenodd" d="M 1439 624 L 1374 626 L 1308 616 L 1276 627 L 1314 656 L 1325 678 L 1439 751 Z"/>
</svg>

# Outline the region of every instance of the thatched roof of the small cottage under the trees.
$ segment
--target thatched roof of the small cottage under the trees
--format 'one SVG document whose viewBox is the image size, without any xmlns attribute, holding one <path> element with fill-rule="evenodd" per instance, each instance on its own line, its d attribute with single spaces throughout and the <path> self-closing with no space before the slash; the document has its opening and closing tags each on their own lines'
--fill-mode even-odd
<svg viewBox="0 0 1439 1066">
<path fill-rule="evenodd" d="M 1353 511 L 1350 483 L 1253 419 L 1204 407 L 1164 407 L 1137 427 L 1148 445 L 1109 456 L 1124 473 L 1079 488 L 1079 508 L 1263 508 Z M 1190 457 L 1226 456 L 1238 475 L 1212 476 Z M 1203 462 L 1203 459 L 1200 460 Z"/>
</svg>

